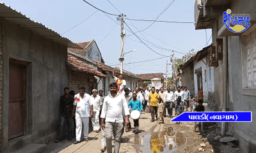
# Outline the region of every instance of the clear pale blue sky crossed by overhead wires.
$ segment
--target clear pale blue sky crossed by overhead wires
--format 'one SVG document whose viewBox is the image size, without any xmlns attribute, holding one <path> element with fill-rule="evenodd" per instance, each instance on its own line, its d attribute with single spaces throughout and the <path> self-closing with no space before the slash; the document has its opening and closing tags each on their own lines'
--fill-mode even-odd
<svg viewBox="0 0 256 153">
<path fill-rule="evenodd" d="M 11 6 L 11 8 L 20 11 L 26 17 L 32 20 L 41 22 L 46 27 L 60 33 L 62 36 L 67 37 L 74 42 L 84 42 L 94 39 L 100 49 L 105 64 L 113 67 L 120 67 L 120 25 L 113 22 L 120 23 L 116 20 L 115 16 L 109 15 L 113 20 L 107 17 L 101 11 L 85 3 L 83 0 L 61 1 L 61 0 L 2 0 L 4 4 Z M 127 18 L 154 20 L 154 18 L 161 13 L 161 11 L 168 6 L 173 0 L 141 0 L 141 1 L 124 1 L 124 0 L 109 0 L 118 10 L 116 10 L 108 0 L 86 0 L 88 3 L 93 4 L 100 10 L 108 13 L 119 15 L 121 11 Z M 194 6 L 195 0 L 175 0 L 173 4 L 166 10 L 157 20 L 178 21 L 178 22 L 194 22 Z M 95 11 L 97 11 L 95 13 Z M 95 13 L 94 15 L 92 15 Z M 90 17 L 92 15 L 92 17 Z M 90 18 L 88 18 L 90 17 Z M 84 19 L 83 23 L 82 22 Z M 125 20 L 125 23 L 136 32 L 138 29 L 145 29 L 152 22 Z M 77 25 L 79 24 L 79 25 Z M 134 24 L 135 27 L 132 25 Z M 76 27 L 74 27 L 77 25 Z M 124 27 L 129 30 L 125 25 Z M 68 31 L 68 29 L 74 27 Z M 65 33 L 65 31 L 68 31 Z M 172 55 L 172 51 L 187 54 L 189 50 L 194 48 L 196 51 L 205 47 L 206 41 L 211 36 L 211 29 L 207 29 L 207 40 L 205 30 L 195 30 L 194 24 L 178 24 L 178 23 L 164 23 L 155 22 L 152 26 L 148 27 L 143 32 L 136 33 L 137 36 L 143 38 L 145 43 L 157 45 L 161 48 L 152 48 L 155 52 L 150 50 L 143 43 L 137 41 L 136 36 L 131 35 L 129 31 L 125 31 L 126 36 L 124 39 L 124 52 L 129 52 L 138 49 L 136 52 L 125 54 L 124 69 L 132 73 L 165 73 L 166 61 L 170 63 L 170 57 L 163 59 L 162 55 Z M 63 34 L 64 33 L 64 34 Z M 150 36 L 151 35 L 151 36 Z M 152 37 L 153 36 L 153 37 Z M 158 40 L 157 40 L 157 39 Z M 132 39 L 132 40 L 131 40 Z M 133 41 L 135 40 L 135 41 Z M 148 43 L 147 41 L 150 43 Z M 159 41 L 161 40 L 161 41 Z M 163 43 L 163 42 L 164 43 Z M 212 40 L 209 41 L 211 44 Z M 175 57 L 182 57 L 184 54 L 175 52 Z M 149 59 L 157 59 L 155 61 L 140 62 Z M 129 62 L 139 62 L 134 64 L 127 64 Z M 168 76 L 172 74 L 172 69 L 168 67 Z"/>
</svg>

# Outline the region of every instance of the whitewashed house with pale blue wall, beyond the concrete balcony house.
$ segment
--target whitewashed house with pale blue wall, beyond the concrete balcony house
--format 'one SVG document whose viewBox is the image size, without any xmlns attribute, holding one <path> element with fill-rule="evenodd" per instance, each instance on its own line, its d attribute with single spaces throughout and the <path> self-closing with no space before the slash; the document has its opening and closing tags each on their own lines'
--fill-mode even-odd
<svg viewBox="0 0 256 153">
<path fill-rule="evenodd" d="M 211 106 L 214 102 L 214 68 L 209 66 L 209 49 L 212 45 L 198 51 L 188 61 L 180 64 L 180 85 L 187 86 L 193 96 L 198 99 L 198 92 L 203 89 L 204 103 Z"/>
</svg>

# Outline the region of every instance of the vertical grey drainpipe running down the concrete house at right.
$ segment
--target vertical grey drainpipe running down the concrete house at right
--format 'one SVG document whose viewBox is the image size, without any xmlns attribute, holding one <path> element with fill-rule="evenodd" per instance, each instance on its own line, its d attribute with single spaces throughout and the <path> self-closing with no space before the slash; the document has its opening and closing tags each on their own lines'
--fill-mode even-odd
<svg viewBox="0 0 256 153">
<path fill-rule="evenodd" d="M 227 36 L 223 37 L 223 103 L 222 103 L 222 112 L 227 111 L 227 74 L 228 74 L 228 38 Z M 225 135 L 226 131 L 226 122 L 221 122 L 221 136 Z"/>
</svg>

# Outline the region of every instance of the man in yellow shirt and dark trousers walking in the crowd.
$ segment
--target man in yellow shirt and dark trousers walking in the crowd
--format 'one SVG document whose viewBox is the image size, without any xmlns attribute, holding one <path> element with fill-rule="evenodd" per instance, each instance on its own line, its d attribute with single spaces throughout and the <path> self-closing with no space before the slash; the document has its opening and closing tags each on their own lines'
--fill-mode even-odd
<svg viewBox="0 0 256 153">
<path fill-rule="evenodd" d="M 157 106 L 158 106 L 158 98 L 159 95 L 155 92 L 156 88 L 151 88 L 151 93 L 148 96 L 148 102 L 151 109 L 151 122 L 155 121 L 155 115 L 157 119 Z"/>
</svg>

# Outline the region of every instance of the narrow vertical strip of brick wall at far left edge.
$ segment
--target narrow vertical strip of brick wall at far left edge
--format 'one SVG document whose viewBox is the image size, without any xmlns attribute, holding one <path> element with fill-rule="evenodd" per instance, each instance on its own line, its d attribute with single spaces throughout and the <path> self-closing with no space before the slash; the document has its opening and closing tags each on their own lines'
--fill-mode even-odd
<svg viewBox="0 0 256 153">
<path fill-rule="evenodd" d="M 2 142 L 3 142 L 3 129 L 2 129 L 2 108 L 3 108 L 3 58 L 2 58 L 2 41 L 1 41 L 1 17 L 0 17 L 0 152 L 2 152 Z"/>
</svg>

